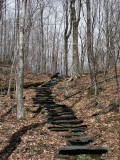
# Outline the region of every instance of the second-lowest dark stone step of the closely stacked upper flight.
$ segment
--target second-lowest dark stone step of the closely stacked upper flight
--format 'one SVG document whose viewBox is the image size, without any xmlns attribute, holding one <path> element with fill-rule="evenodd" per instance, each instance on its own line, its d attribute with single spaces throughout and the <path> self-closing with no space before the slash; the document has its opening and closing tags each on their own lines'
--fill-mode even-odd
<svg viewBox="0 0 120 160">
<path fill-rule="evenodd" d="M 78 119 L 75 119 L 75 120 L 57 120 L 57 121 L 52 122 L 52 124 L 55 124 L 55 125 L 62 125 L 62 124 L 74 125 L 74 124 L 81 124 L 81 123 L 83 123 L 83 121 L 78 120 Z"/>
</svg>

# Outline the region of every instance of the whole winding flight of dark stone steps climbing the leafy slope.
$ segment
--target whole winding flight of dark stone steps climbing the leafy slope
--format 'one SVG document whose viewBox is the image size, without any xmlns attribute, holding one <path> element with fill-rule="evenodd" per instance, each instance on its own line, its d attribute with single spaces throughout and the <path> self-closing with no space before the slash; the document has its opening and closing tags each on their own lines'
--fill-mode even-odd
<svg viewBox="0 0 120 160">
<path fill-rule="evenodd" d="M 66 132 L 67 138 L 66 147 L 59 148 L 58 158 L 70 159 L 77 158 L 81 154 L 94 156 L 95 159 L 100 159 L 101 155 L 107 153 L 108 150 L 102 147 L 91 147 L 89 144 L 94 141 L 94 137 L 86 137 L 84 132 L 87 130 L 87 125 L 82 125 L 83 121 L 79 120 L 74 111 L 66 105 L 59 105 L 54 102 L 54 97 L 51 95 L 51 89 L 62 80 L 61 77 L 50 80 L 41 87 L 36 87 L 36 97 L 33 98 L 34 104 L 38 104 L 38 112 L 41 112 L 41 105 L 43 105 L 42 113 L 47 112 L 46 123 L 51 123 L 53 126 L 48 127 L 52 132 Z M 34 105 L 33 105 L 34 107 Z M 62 156 L 67 155 L 67 156 Z M 81 155 L 82 156 L 82 155 Z"/>
</svg>

